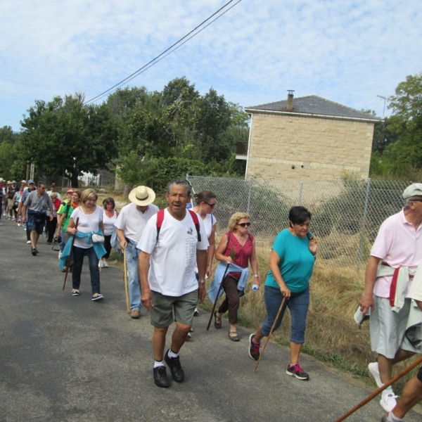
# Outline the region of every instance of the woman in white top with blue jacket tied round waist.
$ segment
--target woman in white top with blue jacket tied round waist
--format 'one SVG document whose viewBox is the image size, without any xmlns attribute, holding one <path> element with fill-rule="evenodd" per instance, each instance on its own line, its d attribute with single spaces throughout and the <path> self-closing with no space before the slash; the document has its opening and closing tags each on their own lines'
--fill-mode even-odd
<svg viewBox="0 0 422 422">
<path fill-rule="evenodd" d="M 96 240 L 94 234 L 103 234 L 103 209 L 96 205 L 98 195 L 94 189 L 87 189 L 82 193 L 79 207 L 73 210 L 68 224 L 68 233 L 75 236 L 73 245 L 73 270 L 72 270 L 72 295 L 79 296 L 79 286 L 81 283 L 82 264 L 84 256 L 88 256 L 89 273 L 91 274 L 92 300 L 103 300 L 100 292 L 100 270 L 98 269 L 98 260 L 106 254 L 106 249 L 101 242 Z M 78 221 L 77 227 L 76 222 Z M 70 255 L 69 241 L 63 250 L 63 258 Z"/>
</svg>

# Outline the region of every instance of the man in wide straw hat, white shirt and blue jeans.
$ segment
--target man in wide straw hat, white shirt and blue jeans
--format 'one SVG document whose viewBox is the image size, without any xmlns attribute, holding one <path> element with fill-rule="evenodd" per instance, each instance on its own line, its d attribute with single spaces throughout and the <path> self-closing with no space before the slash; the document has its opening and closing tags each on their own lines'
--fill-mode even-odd
<svg viewBox="0 0 422 422">
<path fill-rule="evenodd" d="M 141 316 L 141 286 L 138 275 L 138 254 L 136 245 L 141 238 L 146 222 L 158 212 L 153 204 L 155 193 L 147 186 L 137 186 L 129 193 L 130 204 L 122 207 L 115 222 L 120 247 L 126 250 L 128 272 L 130 316 L 138 319 Z"/>
</svg>

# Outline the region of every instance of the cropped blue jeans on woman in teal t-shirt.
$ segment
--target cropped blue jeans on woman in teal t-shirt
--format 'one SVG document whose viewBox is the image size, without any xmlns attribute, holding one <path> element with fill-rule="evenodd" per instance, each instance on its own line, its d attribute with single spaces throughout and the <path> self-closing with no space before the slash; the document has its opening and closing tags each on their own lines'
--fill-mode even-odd
<svg viewBox="0 0 422 422">
<path fill-rule="evenodd" d="M 265 309 L 267 309 L 267 321 L 262 323 L 261 333 L 265 336 L 269 335 L 271 326 L 276 319 L 277 312 L 279 312 L 283 295 L 279 288 L 265 286 L 264 301 Z M 300 293 L 292 293 L 290 299 L 286 300 L 290 316 L 292 319 L 292 332 L 290 334 L 290 341 L 298 345 L 305 343 L 305 329 L 306 329 L 306 316 L 309 308 L 309 287 Z M 286 305 L 284 305 L 279 316 L 279 320 L 274 326 L 274 331 L 279 328 L 281 321 L 283 321 Z"/>
</svg>

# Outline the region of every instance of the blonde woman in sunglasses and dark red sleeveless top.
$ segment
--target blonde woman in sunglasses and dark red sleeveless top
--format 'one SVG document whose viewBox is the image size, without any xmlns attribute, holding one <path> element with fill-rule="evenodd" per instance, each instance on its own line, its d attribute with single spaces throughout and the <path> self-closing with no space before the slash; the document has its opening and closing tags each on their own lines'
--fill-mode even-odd
<svg viewBox="0 0 422 422">
<path fill-rule="evenodd" d="M 219 283 L 223 283 L 223 289 L 226 293 L 226 298 L 222 305 L 215 312 L 215 328 L 222 328 L 222 316 L 229 311 L 229 339 L 232 341 L 239 341 L 240 338 L 236 331 L 238 307 L 240 303 L 240 296 L 244 294 L 246 280 L 248 279 L 249 271 L 248 264 L 252 267 L 254 274 L 254 283 L 259 286 L 258 261 L 255 253 L 255 240 L 252 234 L 249 233 L 250 217 L 244 212 L 236 212 L 230 217 L 229 231 L 224 234 L 219 242 L 217 250 L 215 251 L 215 259 L 220 261 L 219 267 L 215 272 L 214 281 L 210 286 L 208 295 L 212 300 L 212 291 Z M 222 280 L 224 270 L 229 264 L 229 272 Z"/>
</svg>

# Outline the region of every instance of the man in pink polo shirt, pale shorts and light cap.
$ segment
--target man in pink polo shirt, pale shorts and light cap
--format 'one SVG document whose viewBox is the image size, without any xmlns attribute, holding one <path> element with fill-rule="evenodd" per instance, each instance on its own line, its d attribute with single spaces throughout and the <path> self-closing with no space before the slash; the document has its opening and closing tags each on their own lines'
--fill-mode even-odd
<svg viewBox="0 0 422 422">
<path fill-rule="evenodd" d="M 405 206 L 383 222 L 366 267 L 365 288 L 360 309 L 371 309 L 371 349 L 378 363 L 369 372 L 378 387 L 392 378 L 392 366 L 417 350 L 404 336 L 411 306 L 409 291 L 422 258 L 422 184 L 403 192 Z M 378 266 L 378 264 L 380 264 Z M 391 411 L 397 396 L 391 387 L 383 391 L 381 407 Z"/>
</svg>

